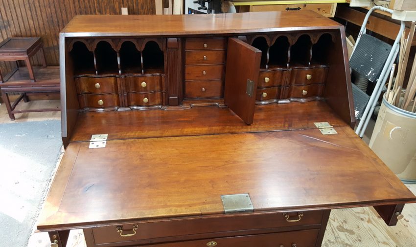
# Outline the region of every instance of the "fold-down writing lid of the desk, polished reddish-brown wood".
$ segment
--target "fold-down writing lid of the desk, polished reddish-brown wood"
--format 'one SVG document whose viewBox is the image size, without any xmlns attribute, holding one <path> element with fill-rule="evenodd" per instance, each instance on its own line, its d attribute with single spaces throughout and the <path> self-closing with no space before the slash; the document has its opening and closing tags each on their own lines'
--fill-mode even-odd
<svg viewBox="0 0 416 247">
<path fill-rule="evenodd" d="M 238 193 L 254 212 L 415 201 L 351 128 L 335 129 L 70 143 L 38 229 L 222 215 L 220 196 Z"/>
</svg>

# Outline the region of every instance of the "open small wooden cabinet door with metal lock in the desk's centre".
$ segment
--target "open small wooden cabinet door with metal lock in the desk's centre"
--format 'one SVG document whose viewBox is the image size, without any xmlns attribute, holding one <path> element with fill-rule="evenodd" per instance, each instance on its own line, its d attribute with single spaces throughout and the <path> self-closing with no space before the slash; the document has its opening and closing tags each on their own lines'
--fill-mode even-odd
<svg viewBox="0 0 416 247">
<path fill-rule="evenodd" d="M 259 49 L 228 39 L 224 103 L 247 124 L 253 123 L 260 60 Z"/>
</svg>

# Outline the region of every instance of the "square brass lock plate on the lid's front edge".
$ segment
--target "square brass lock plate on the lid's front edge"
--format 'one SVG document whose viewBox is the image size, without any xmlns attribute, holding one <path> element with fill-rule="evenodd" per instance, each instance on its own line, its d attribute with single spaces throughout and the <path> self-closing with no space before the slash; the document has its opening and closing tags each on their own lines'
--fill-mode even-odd
<svg viewBox="0 0 416 247">
<path fill-rule="evenodd" d="M 225 213 L 253 212 L 254 207 L 249 194 L 221 196 Z"/>
</svg>

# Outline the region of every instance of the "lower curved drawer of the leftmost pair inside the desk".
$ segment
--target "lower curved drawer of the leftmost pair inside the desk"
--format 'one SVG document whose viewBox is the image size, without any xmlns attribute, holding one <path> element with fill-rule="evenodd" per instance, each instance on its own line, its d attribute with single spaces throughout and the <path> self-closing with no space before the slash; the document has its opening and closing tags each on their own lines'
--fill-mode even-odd
<svg viewBox="0 0 416 247">
<path fill-rule="evenodd" d="M 81 94 L 78 95 L 81 108 L 105 108 L 119 106 L 118 94 Z"/>
</svg>

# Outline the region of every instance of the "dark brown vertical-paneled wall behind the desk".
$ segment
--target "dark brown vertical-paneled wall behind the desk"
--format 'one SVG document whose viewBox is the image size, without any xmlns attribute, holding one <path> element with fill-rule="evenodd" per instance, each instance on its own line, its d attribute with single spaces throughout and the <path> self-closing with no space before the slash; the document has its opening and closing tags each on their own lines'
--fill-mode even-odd
<svg viewBox="0 0 416 247">
<path fill-rule="evenodd" d="M 154 0 L 0 0 L 0 41 L 8 37 L 42 37 L 48 65 L 59 64 L 59 32 L 75 15 L 155 14 Z M 40 57 L 34 57 L 40 65 Z M 3 75 L 15 66 L 0 62 Z"/>
</svg>

